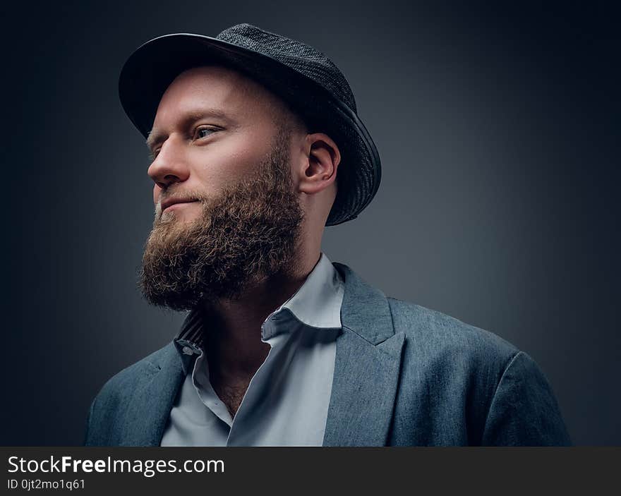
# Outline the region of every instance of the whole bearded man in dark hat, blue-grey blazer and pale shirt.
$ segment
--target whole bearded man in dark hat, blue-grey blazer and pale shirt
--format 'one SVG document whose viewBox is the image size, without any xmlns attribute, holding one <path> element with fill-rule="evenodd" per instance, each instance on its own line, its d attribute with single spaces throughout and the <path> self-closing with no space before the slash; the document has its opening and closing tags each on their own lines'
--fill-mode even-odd
<svg viewBox="0 0 621 496">
<path fill-rule="evenodd" d="M 132 54 L 119 93 L 155 183 L 141 289 L 188 315 L 102 387 L 85 444 L 570 443 L 526 353 L 322 252 L 381 170 L 324 54 L 248 24 L 166 35 Z"/>
</svg>

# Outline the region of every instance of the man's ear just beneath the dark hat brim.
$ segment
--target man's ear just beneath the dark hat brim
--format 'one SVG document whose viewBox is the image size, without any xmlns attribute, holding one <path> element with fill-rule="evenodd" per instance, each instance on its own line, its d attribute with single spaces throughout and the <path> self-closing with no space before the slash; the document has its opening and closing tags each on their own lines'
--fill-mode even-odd
<svg viewBox="0 0 621 496">
<path fill-rule="evenodd" d="M 306 135 L 304 152 L 305 157 L 299 169 L 299 190 L 314 195 L 336 180 L 341 152 L 332 138 L 324 133 Z"/>
</svg>

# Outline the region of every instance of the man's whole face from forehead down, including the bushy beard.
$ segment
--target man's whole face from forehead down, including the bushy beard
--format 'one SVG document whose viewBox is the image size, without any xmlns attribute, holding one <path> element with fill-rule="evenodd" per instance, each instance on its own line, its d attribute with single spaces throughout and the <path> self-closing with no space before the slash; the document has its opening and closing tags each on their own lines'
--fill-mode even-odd
<svg viewBox="0 0 621 496">
<path fill-rule="evenodd" d="M 150 303 L 186 310 L 236 298 L 294 264 L 303 211 L 273 98 L 215 66 L 182 73 L 164 93 L 149 140 L 155 219 L 141 286 Z"/>
</svg>

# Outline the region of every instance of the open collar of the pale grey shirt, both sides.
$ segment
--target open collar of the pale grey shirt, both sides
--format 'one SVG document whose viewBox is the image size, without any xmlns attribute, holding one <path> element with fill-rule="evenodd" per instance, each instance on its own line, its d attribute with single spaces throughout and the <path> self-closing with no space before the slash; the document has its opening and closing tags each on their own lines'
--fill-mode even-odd
<svg viewBox="0 0 621 496">
<path fill-rule="evenodd" d="M 286 320 L 279 318 L 285 308 L 307 327 L 340 329 L 343 294 L 344 283 L 339 272 L 327 255 L 321 252 L 319 261 L 299 289 L 267 317 L 263 339 L 269 339 L 280 330 L 286 330 Z M 203 351 L 203 318 L 199 309 L 190 310 L 174 338 L 174 344 L 187 374 L 189 362 Z"/>
</svg>

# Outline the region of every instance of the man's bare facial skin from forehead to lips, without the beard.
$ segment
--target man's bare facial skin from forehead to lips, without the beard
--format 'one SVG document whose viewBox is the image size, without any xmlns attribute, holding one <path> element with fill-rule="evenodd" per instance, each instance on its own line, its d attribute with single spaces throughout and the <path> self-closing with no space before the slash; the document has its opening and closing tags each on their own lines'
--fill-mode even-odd
<svg viewBox="0 0 621 496">
<path fill-rule="evenodd" d="M 155 156 L 148 174 L 157 213 L 168 200 L 187 200 L 187 190 L 215 198 L 254 174 L 272 149 L 274 106 L 262 87 L 227 68 L 181 73 L 162 96 L 147 140 Z M 200 204 L 181 202 L 161 213 L 169 212 L 185 222 L 198 217 Z"/>
</svg>

